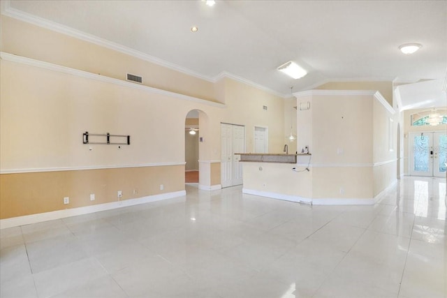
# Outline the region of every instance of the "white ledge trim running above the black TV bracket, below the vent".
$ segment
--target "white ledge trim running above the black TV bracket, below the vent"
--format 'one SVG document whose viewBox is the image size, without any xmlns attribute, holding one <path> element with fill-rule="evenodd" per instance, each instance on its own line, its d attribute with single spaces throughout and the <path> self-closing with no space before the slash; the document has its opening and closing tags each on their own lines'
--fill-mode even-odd
<svg viewBox="0 0 447 298">
<path fill-rule="evenodd" d="M 5 61 L 11 61 L 11 62 L 15 62 L 15 63 L 25 64 L 25 65 L 43 68 L 43 69 L 47 69 L 47 70 L 54 70 L 59 73 L 66 73 L 68 75 L 76 75 L 78 77 L 85 77 L 87 79 L 97 80 L 100 82 L 106 82 L 106 83 L 110 83 L 110 84 L 116 84 L 119 86 L 129 87 L 132 89 L 138 89 L 138 90 L 146 91 L 146 92 L 149 92 L 152 94 L 160 94 L 163 96 L 170 96 L 170 97 L 178 98 L 178 99 L 182 99 L 182 100 L 189 100 L 189 101 L 193 101 L 195 103 L 201 103 L 203 105 L 212 105 L 213 107 L 226 107 L 226 105 L 224 105 L 223 103 L 216 103 L 214 101 L 205 100 L 202 98 L 187 96 L 184 94 L 178 94 L 175 92 L 166 91 L 163 89 L 157 89 L 157 88 L 145 86 L 142 84 L 135 84 L 133 82 L 119 80 L 119 79 L 115 79 L 113 77 L 97 75 L 96 73 L 89 73 L 84 70 L 78 70 L 78 69 L 69 68 L 66 66 L 59 66 L 57 64 L 51 64 L 51 63 L 48 63 L 45 61 L 39 61 L 39 60 L 35 60 L 35 59 L 29 59 L 26 57 L 16 56 L 16 55 L 9 54 L 6 52 L 0 52 L 0 58 Z"/>
</svg>

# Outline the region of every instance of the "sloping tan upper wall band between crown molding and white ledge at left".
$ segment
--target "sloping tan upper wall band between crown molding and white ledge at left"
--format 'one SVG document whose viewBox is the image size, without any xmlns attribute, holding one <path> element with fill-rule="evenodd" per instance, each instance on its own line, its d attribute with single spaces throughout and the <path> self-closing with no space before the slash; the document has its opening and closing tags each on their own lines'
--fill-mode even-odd
<svg viewBox="0 0 447 298">
<path fill-rule="evenodd" d="M 119 80 L 126 80 L 126 73 L 140 75 L 147 86 L 216 101 L 212 82 L 11 17 L 1 17 L 2 52 Z"/>
</svg>

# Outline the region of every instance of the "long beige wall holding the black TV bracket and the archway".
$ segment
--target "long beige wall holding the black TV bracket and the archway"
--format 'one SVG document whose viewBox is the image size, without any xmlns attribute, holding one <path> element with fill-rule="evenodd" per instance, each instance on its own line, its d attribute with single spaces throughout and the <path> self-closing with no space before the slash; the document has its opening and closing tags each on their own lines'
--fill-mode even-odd
<svg viewBox="0 0 447 298">
<path fill-rule="evenodd" d="M 2 219 L 114 202 L 115 188 L 124 192 L 122 200 L 184 190 L 184 126 L 190 110 L 199 110 L 199 137 L 204 140 L 199 160 L 209 165 L 200 181 L 206 186 L 220 184 L 216 161 L 221 122 L 246 127 L 247 149 L 255 125 L 269 127 L 270 149 L 284 146 L 283 98 L 247 84 L 228 78 L 208 82 L 4 16 L 1 51 L 37 60 L 31 65 L 20 59 L 0 61 Z M 68 74 L 60 66 L 88 73 Z M 196 98 L 119 83 L 127 72 L 142 75 L 149 87 Z M 91 75 L 97 73 L 118 80 L 97 80 Z M 121 149 L 91 144 L 89 150 L 82 144 L 85 131 L 131 135 L 131 144 Z M 110 178 L 115 170 L 118 174 Z M 41 186 L 52 187 L 54 181 L 61 183 L 49 196 Z M 103 191 L 104 185 L 113 186 L 110 193 Z M 91 202 L 93 191 L 97 198 Z M 64 196 L 71 198 L 70 204 L 61 204 Z"/>
</svg>

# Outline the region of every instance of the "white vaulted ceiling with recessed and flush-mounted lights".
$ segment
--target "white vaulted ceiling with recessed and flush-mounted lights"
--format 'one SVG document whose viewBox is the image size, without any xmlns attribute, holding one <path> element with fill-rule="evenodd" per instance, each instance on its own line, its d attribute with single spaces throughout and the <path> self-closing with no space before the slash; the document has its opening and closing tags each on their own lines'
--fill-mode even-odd
<svg viewBox="0 0 447 298">
<path fill-rule="evenodd" d="M 217 0 L 209 7 L 201 0 L 20 0 L 9 6 L 209 80 L 226 74 L 284 96 L 292 86 L 296 92 L 329 80 L 437 80 L 413 87 L 439 91 L 425 106 L 446 105 L 447 1 Z M 193 25 L 198 32 L 190 31 Z M 423 47 L 404 55 L 397 48 L 403 43 Z M 292 80 L 277 71 L 290 60 L 308 75 Z M 415 99 L 404 86 L 402 105 L 424 101 L 423 92 Z"/>
</svg>

